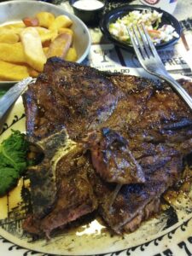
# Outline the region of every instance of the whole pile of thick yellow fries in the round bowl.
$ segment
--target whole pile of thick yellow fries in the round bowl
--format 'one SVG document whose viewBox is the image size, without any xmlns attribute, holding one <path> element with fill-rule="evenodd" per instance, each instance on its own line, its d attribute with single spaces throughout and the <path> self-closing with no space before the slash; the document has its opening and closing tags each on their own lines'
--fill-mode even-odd
<svg viewBox="0 0 192 256">
<path fill-rule="evenodd" d="M 52 56 L 76 61 L 72 24 L 67 15 L 39 12 L 35 17 L 0 26 L 0 80 L 35 78 Z"/>
</svg>

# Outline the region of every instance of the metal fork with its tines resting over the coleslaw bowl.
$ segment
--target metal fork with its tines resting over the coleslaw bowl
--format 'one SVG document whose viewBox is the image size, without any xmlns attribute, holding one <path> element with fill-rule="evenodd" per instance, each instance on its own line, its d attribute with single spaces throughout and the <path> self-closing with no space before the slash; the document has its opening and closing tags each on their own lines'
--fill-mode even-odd
<svg viewBox="0 0 192 256">
<path fill-rule="evenodd" d="M 150 74 L 166 80 L 177 92 L 179 96 L 183 98 L 183 101 L 186 102 L 192 110 L 192 98 L 189 96 L 186 90 L 183 89 L 181 84 L 178 84 L 172 76 L 167 73 L 165 66 L 160 60 L 154 44 L 152 43 L 151 38 L 148 35 L 146 28 L 141 24 L 140 26 L 131 26 L 127 28 L 133 48 L 135 49 L 138 61 L 141 63 L 142 67 Z"/>
</svg>

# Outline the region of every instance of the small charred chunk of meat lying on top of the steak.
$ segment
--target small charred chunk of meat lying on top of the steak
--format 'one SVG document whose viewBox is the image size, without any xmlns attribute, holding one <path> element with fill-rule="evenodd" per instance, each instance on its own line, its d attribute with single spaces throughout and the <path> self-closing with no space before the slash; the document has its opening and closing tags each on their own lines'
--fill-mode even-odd
<svg viewBox="0 0 192 256">
<path fill-rule="evenodd" d="M 129 149 L 129 142 L 108 128 L 92 132 L 88 142 L 92 165 L 109 183 L 144 183 L 142 167 Z"/>
</svg>

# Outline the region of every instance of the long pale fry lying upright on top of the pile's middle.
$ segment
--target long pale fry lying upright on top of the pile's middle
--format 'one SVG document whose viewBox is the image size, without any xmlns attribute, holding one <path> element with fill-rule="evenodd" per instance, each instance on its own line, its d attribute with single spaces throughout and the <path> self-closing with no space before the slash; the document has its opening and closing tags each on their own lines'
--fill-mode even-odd
<svg viewBox="0 0 192 256">
<path fill-rule="evenodd" d="M 26 63 L 39 72 L 43 71 L 47 58 L 44 55 L 38 31 L 32 26 L 26 27 L 20 33 L 20 38 L 26 55 Z"/>
</svg>

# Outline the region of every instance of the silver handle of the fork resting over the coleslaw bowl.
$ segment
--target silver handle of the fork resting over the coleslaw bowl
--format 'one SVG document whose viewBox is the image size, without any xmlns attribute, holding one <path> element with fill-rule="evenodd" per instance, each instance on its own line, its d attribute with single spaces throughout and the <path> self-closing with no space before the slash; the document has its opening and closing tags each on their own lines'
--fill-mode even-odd
<svg viewBox="0 0 192 256">
<path fill-rule="evenodd" d="M 174 90 L 177 91 L 179 96 L 182 97 L 183 101 L 189 106 L 190 110 L 192 111 L 192 98 L 189 96 L 186 90 L 183 89 L 181 84 L 178 84 L 175 79 L 173 79 L 169 74 L 166 76 L 159 74 L 159 77 L 163 80 L 166 80 Z"/>
</svg>

